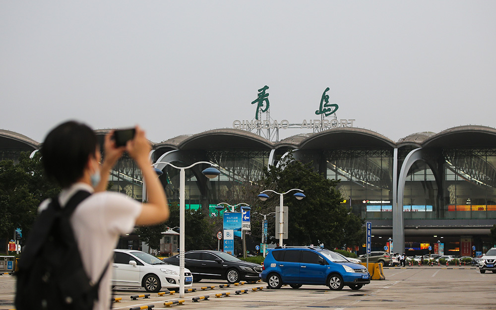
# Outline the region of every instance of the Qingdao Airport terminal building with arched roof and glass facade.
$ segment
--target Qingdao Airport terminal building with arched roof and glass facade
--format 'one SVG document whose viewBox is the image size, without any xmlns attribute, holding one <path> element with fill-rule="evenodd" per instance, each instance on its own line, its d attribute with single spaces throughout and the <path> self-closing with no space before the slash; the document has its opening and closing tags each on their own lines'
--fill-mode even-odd
<svg viewBox="0 0 496 310">
<path fill-rule="evenodd" d="M 103 141 L 109 129 L 95 130 Z M 0 159 L 33 152 L 40 143 L 0 130 Z M 457 126 L 438 133 L 420 132 L 392 141 L 374 131 L 341 126 L 294 135 L 278 142 L 235 128 L 181 135 L 153 143 L 152 162 L 188 166 L 198 161 L 219 165 L 221 175 L 207 181 L 206 166 L 186 170 L 186 208 L 209 210 L 219 197 L 245 182 L 256 182 L 262 168 L 289 151 L 312 162 L 352 210 L 372 222 L 372 247 L 392 238 L 393 250 L 407 255 L 430 245 L 445 254 L 472 255 L 492 247 L 496 224 L 496 129 Z M 179 170 L 158 164 L 167 194 L 179 199 Z M 143 199 L 143 181 L 132 160 L 123 158 L 111 175 L 112 190 Z M 363 248 L 362 248 L 363 251 Z M 428 251 L 427 251 L 428 252 Z M 434 252 L 434 251 L 433 251 Z"/>
</svg>

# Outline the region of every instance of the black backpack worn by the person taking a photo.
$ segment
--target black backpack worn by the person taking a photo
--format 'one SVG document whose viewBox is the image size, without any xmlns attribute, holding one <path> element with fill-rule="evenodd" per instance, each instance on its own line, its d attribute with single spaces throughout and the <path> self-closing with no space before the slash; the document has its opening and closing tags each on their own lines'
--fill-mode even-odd
<svg viewBox="0 0 496 310">
<path fill-rule="evenodd" d="M 16 272 L 17 310 L 92 310 L 108 268 L 93 284 L 86 275 L 70 217 L 91 194 L 80 190 L 61 208 L 58 197 L 43 210 L 29 233 Z"/>
</svg>

